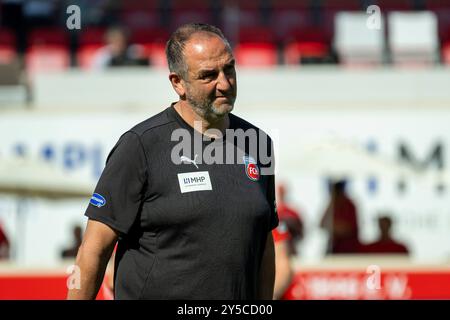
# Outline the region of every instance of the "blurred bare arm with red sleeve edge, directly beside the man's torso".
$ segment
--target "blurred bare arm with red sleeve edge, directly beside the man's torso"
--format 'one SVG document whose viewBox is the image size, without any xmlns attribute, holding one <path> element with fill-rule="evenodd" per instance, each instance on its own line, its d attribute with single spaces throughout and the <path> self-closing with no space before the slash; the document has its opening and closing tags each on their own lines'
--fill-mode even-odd
<svg viewBox="0 0 450 320">
<path fill-rule="evenodd" d="M 273 298 L 279 300 L 289 288 L 294 277 L 294 269 L 291 264 L 291 235 L 284 221 L 280 221 L 278 227 L 272 231 L 275 242 L 275 287 Z"/>
</svg>

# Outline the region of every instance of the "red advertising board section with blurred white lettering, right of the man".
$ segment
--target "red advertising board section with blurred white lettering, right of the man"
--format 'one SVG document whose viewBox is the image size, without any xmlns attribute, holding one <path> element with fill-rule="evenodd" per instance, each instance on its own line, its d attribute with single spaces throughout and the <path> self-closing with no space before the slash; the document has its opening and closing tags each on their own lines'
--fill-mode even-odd
<svg viewBox="0 0 450 320">
<path fill-rule="evenodd" d="M 308 270 L 295 275 L 284 299 L 450 299 L 450 271 Z"/>
</svg>

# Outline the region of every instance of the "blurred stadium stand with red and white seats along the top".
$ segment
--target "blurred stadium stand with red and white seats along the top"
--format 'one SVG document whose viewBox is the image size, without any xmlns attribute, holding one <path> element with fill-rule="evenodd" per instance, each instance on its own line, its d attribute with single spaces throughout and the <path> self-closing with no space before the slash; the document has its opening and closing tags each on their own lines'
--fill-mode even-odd
<svg viewBox="0 0 450 320">
<path fill-rule="evenodd" d="M 381 10 L 381 32 L 358 28 L 365 25 L 369 5 Z M 26 33 L 28 71 L 64 70 L 71 65 L 71 58 L 72 65 L 90 69 L 93 54 L 104 41 L 104 31 L 113 25 L 129 30 L 130 41 L 144 48 L 152 67 L 165 66 L 168 34 L 192 21 L 219 26 L 235 47 L 239 62 L 250 67 L 320 63 L 379 66 L 409 63 L 408 59 L 423 65 L 424 61 L 448 64 L 450 60 L 449 1 L 131 0 L 95 10 L 103 10 L 97 13 L 99 17 L 109 18 L 99 18 L 96 23 L 86 19 L 87 25 L 79 32 L 61 35 L 61 16 L 55 16 L 53 25 L 46 29 L 31 27 Z M 408 14 L 410 18 L 406 18 Z M 421 32 L 409 32 L 411 28 Z M 59 38 L 56 43 L 49 41 L 55 37 Z M 42 43 L 42 39 L 46 40 Z M 16 35 L 2 27 L 0 61 L 17 55 L 16 43 Z"/>
</svg>

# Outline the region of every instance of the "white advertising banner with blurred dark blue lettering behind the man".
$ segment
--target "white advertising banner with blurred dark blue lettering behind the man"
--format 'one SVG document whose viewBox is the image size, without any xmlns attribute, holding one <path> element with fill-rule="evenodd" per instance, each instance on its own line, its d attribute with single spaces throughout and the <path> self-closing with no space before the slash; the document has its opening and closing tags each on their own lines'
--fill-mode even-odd
<svg viewBox="0 0 450 320">
<path fill-rule="evenodd" d="M 2 114 L 0 188 L 11 191 L 20 166 L 6 166 L 22 157 L 27 159 L 22 168 L 32 188 L 49 188 L 54 182 L 64 190 L 62 199 L 27 198 L 26 206 L 23 197 L 33 194 L 29 190 L 16 190 L 21 198 L 2 196 L 0 219 L 13 239 L 23 241 L 16 252 L 21 261 L 46 264 L 58 259 L 59 249 L 70 242 L 70 225 L 85 221 L 89 200 L 88 195 L 67 199 L 71 190 L 74 197 L 88 193 L 89 186 L 93 190 L 120 135 L 154 113 Z M 375 219 L 389 212 L 395 219 L 395 238 L 408 245 L 414 259 L 450 257 L 450 110 L 274 106 L 246 111 L 237 105 L 236 114 L 264 129 L 275 142 L 277 180 L 287 183 L 289 200 L 305 221 L 306 238 L 300 246 L 305 260 L 319 259 L 325 252 L 326 235 L 318 224 L 330 178 L 347 179 L 362 242 L 375 240 Z M 43 163 L 53 170 L 40 170 Z M 23 183 L 23 174 L 21 179 Z M 17 219 L 17 212 L 26 222 Z M 25 232 L 25 240 L 18 232 Z"/>
</svg>

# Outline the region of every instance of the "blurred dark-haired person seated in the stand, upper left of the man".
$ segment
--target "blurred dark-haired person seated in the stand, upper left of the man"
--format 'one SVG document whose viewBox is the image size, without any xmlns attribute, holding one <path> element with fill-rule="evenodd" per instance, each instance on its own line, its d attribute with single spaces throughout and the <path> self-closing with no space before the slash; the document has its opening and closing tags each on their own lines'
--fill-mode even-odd
<svg viewBox="0 0 450 320">
<path fill-rule="evenodd" d="M 130 44 L 124 28 L 119 26 L 109 28 L 105 34 L 105 42 L 106 45 L 96 53 L 94 68 L 106 69 L 149 64 L 149 60 L 144 54 L 144 48 L 140 45 Z"/>
</svg>

